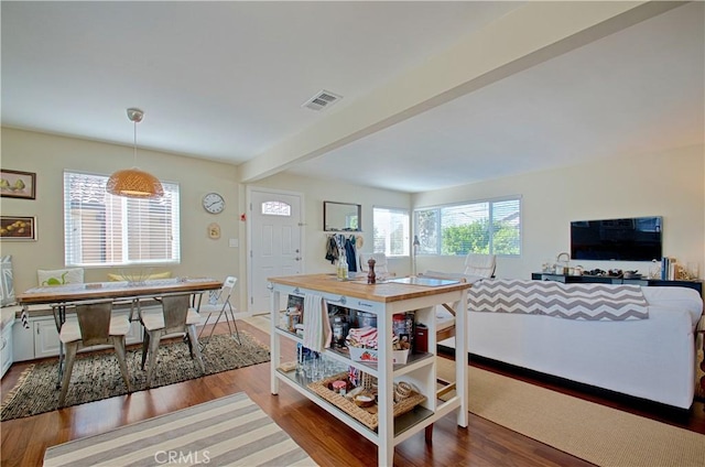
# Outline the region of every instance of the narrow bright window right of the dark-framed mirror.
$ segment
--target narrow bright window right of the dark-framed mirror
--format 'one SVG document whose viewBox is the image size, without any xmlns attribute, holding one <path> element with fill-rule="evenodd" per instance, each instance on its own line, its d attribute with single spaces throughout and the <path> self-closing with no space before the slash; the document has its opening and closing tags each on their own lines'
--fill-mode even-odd
<svg viewBox="0 0 705 467">
<path fill-rule="evenodd" d="M 372 208 L 375 252 L 388 257 L 409 256 L 409 210 Z"/>
</svg>

